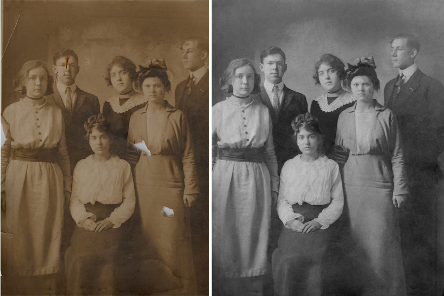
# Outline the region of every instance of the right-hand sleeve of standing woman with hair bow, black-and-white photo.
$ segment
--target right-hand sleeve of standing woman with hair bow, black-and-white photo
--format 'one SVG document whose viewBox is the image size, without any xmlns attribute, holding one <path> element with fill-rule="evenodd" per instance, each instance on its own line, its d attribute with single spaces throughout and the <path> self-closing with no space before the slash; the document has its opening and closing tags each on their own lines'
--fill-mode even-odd
<svg viewBox="0 0 444 296">
<path fill-rule="evenodd" d="M 392 114 L 390 121 L 390 145 L 392 147 L 392 170 L 393 170 L 393 195 L 407 194 L 408 181 L 407 169 L 404 162 L 403 143 L 395 114 Z"/>
</svg>

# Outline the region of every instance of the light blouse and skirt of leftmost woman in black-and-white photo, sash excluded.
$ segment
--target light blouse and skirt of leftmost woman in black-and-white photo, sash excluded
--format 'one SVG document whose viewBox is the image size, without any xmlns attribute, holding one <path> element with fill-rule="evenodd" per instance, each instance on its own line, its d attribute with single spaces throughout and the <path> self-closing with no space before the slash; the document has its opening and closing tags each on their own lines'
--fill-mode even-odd
<svg viewBox="0 0 444 296">
<path fill-rule="evenodd" d="M 271 190 L 279 177 L 268 109 L 227 98 L 212 108 L 213 266 L 224 277 L 265 273 Z M 264 162 L 216 161 L 221 148 L 264 148 Z"/>
</svg>

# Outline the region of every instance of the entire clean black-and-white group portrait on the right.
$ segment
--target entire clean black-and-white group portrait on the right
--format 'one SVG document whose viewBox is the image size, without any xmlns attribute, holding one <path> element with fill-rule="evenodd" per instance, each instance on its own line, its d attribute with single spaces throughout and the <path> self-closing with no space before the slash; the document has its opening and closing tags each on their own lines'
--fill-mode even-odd
<svg viewBox="0 0 444 296">
<path fill-rule="evenodd" d="M 213 295 L 443 295 L 443 15 L 212 2 Z"/>
</svg>

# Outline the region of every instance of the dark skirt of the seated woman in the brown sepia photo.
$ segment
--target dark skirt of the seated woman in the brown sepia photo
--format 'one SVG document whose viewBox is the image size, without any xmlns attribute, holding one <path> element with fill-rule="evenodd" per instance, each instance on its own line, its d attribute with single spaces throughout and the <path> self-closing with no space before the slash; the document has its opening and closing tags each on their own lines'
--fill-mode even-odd
<svg viewBox="0 0 444 296">
<path fill-rule="evenodd" d="M 110 217 L 120 204 L 85 204 L 96 222 Z M 103 232 L 76 226 L 65 254 L 68 295 L 111 295 L 114 290 L 114 258 L 122 237 L 123 224 Z"/>
</svg>

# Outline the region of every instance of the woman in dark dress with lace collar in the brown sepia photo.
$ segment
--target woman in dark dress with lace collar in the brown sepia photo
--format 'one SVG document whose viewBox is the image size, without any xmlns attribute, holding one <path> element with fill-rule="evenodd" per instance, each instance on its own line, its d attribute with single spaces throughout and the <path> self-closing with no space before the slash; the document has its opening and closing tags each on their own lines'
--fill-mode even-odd
<svg viewBox="0 0 444 296">
<path fill-rule="evenodd" d="M 136 65 L 131 60 L 116 56 L 108 65 L 105 80 L 118 92 L 103 104 L 103 116 L 111 126 L 114 134 L 116 154 L 125 155 L 128 126 L 131 115 L 147 105 L 147 99 L 133 88 L 137 80 Z"/>
</svg>

